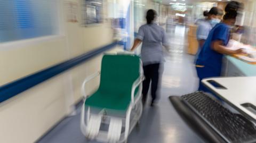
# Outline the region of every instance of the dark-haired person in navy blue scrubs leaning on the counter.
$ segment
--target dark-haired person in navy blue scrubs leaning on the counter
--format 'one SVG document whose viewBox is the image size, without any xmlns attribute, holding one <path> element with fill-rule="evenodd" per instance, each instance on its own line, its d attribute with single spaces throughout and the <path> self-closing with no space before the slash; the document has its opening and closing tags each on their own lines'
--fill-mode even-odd
<svg viewBox="0 0 256 143">
<path fill-rule="evenodd" d="M 222 57 L 224 54 L 233 55 L 244 53 L 243 49 L 233 51 L 226 48 L 230 39 L 230 29 L 235 25 L 240 6 L 241 4 L 235 1 L 227 4 L 223 21 L 213 27 L 203 45 L 196 61 L 197 75 L 200 80 L 198 90 L 208 91 L 202 85 L 202 79 L 220 77 Z"/>
</svg>

